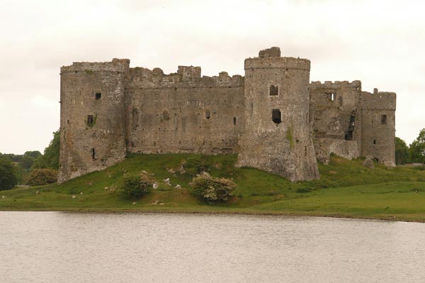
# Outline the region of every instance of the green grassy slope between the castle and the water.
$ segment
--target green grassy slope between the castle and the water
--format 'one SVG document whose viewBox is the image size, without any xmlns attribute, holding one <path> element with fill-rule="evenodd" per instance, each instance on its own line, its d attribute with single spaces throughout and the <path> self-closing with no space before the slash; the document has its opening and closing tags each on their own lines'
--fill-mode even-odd
<svg viewBox="0 0 425 283">
<path fill-rule="evenodd" d="M 188 156 L 130 155 L 113 167 L 61 185 L 0 191 L 0 210 L 264 213 L 425 222 L 425 171 L 416 168 L 376 165 L 370 170 L 362 166 L 363 160 L 331 157 L 329 165 L 319 165 L 321 179 L 292 183 L 261 170 L 232 169 L 229 164 L 236 162 L 236 155 L 213 155 L 206 157 L 210 174 L 232 178 L 238 187 L 232 201 L 205 204 L 192 196 L 191 177 L 169 172 L 179 170 Z M 159 189 L 136 204 L 116 191 L 105 190 L 118 187 L 124 174 L 142 170 L 154 174 Z M 173 186 L 180 184 L 183 188 L 164 184 L 162 180 L 168 177 Z M 72 199 L 73 195 L 76 198 Z"/>
</svg>

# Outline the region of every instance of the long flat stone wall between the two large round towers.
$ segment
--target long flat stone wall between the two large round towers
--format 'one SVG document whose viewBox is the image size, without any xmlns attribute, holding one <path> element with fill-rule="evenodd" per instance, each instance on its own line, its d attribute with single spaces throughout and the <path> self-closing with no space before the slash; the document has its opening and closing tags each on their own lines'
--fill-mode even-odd
<svg viewBox="0 0 425 283">
<path fill-rule="evenodd" d="M 238 152 L 244 127 L 244 78 L 200 77 L 200 67 L 175 74 L 130 69 L 126 82 L 130 152 Z"/>
</svg>

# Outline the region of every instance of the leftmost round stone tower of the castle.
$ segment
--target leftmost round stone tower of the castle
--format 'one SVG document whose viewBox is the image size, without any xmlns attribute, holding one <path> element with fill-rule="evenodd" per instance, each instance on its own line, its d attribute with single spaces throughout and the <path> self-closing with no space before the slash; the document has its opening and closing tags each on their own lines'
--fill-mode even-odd
<svg viewBox="0 0 425 283">
<path fill-rule="evenodd" d="M 113 60 L 61 68 L 58 182 L 124 159 L 123 78 L 129 64 L 130 60 Z"/>
</svg>

